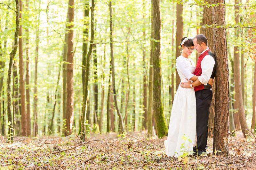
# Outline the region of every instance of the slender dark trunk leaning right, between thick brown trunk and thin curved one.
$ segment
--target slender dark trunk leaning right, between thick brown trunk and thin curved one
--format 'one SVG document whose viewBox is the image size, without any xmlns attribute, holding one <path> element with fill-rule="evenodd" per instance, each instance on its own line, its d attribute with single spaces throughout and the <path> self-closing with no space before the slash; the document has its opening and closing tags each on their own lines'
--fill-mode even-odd
<svg viewBox="0 0 256 170">
<path fill-rule="evenodd" d="M 91 40 L 90 40 L 90 46 L 89 51 L 86 55 L 86 70 L 85 70 L 85 85 L 84 85 L 84 96 L 83 96 L 83 108 L 82 108 L 82 128 L 81 128 L 81 140 L 85 140 L 85 126 L 84 126 L 84 118 L 85 118 L 85 107 L 86 107 L 86 101 L 88 96 L 88 81 L 89 81 L 89 72 L 90 72 L 90 58 L 92 54 L 92 47 L 93 47 L 93 41 L 94 41 L 94 0 L 92 0 L 92 7 L 91 7 Z M 87 109 L 88 109 L 87 105 Z"/>
</svg>

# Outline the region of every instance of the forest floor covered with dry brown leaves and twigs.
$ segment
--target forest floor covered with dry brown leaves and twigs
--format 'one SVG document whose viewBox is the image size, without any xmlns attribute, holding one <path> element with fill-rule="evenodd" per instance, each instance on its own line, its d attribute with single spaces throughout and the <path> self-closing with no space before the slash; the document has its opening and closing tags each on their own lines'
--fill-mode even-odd
<svg viewBox="0 0 256 170">
<path fill-rule="evenodd" d="M 92 134 L 84 143 L 74 135 L 15 137 L 12 144 L 2 136 L 0 169 L 256 169 L 255 138 L 243 138 L 241 132 L 229 137 L 228 158 L 212 154 L 212 138 L 207 155 L 173 158 L 165 155 L 166 137 L 145 138 L 145 132 L 130 135 Z M 70 150 L 60 152 L 65 149 Z"/>
</svg>

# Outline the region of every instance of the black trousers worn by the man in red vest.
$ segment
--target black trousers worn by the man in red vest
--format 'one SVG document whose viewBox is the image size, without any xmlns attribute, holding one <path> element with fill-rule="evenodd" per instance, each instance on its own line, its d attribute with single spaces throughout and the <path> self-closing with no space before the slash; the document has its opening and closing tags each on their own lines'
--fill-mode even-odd
<svg viewBox="0 0 256 170">
<path fill-rule="evenodd" d="M 208 137 L 209 108 L 212 102 L 212 90 L 204 89 L 196 92 L 196 146 L 198 155 L 206 152 Z"/>
</svg>

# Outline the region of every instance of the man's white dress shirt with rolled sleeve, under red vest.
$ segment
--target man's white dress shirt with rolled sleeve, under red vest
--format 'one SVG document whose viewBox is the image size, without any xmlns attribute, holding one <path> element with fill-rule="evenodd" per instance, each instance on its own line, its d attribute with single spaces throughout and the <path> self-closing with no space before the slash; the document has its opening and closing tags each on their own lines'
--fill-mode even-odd
<svg viewBox="0 0 256 170">
<path fill-rule="evenodd" d="M 209 48 L 206 48 L 200 55 L 202 55 L 208 49 Z M 207 85 L 208 81 L 210 80 L 214 64 L 215 61 L 211 55 L 205 55 L 201 61 L 202 75 L 198 77 L 198 80 L 203 85 Z"/>
</svg>

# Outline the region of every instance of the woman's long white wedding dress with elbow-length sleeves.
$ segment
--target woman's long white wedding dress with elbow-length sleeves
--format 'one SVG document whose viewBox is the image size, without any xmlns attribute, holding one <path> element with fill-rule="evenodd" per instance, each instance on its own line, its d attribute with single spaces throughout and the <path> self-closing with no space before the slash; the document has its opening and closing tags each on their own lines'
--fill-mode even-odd
<svg viewBox="0 0 256 170">
<path fill-rule="evenodd" d="M 192 59 L 180 55 L 176 68 L 181 82 L 194 75 L 195 64 Z M 196 96 L 194 88 L 179 86 L 175 93 L 167 140 L 164 141 L 167 156 L 178 157 L 184 152 L 192 154 L 196 146 Z"/>
</svg>

